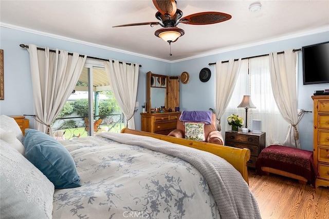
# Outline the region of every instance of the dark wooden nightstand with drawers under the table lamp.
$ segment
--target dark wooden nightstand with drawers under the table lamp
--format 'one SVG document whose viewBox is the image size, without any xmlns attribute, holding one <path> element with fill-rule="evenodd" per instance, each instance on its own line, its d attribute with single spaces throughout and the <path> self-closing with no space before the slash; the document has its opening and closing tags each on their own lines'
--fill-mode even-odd
<svg viewBox="0 0 329 219">
<path fill-rule="evenodd" d="M 247 166 L 256 167 L 256 160 L 261 151 L 265 148 L 266 133 L 242 133 L 227 131 L 225 132 L 225 145 L 234 148 L 247 148 L 250 150 L 250 159 Z"/>
</svg>

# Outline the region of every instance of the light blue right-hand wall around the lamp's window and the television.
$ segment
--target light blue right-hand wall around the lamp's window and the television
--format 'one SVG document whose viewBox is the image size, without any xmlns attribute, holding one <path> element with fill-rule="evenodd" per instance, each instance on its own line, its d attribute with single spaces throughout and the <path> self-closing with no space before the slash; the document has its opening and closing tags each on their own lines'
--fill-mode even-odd
<svg viewBox="0 0 329 219">
<path fill-rule="evenodd" d="M 209 66 L 209 63 L 226 61 L 228 59 L 259 56 L 273 51 L 300 49 L 302 46 L 313 45 L 326 41 L 329 41 L 329 31 L 222 52 L 203 58 L 172 63 L 172 75 L 180 75 L 183 71 L 187 71 L 190 75 L 189 83 L 180 85 L 180 108 L 181 110 L 208 110 L 209 108 L 215 108 L 214 65 Z M 303 85 L 301 52 L 298 54 L 298 63 L 298 108 L 306 111 L 313 111 L 313 100 L 311 96 L 315 90 L 329 89 L 329 84 Z M 199 80 L 199 72 L 204 67 L 208 67 L 212 74 L 210 80 L 205 83 Z M 313 113 L 304 115 L 299 124 L 299 131 L 301 148 L 304 150 L 313 151 Z M 223 131 L 223 134 L 224 133 L 225 130 Z"/>
</svg>

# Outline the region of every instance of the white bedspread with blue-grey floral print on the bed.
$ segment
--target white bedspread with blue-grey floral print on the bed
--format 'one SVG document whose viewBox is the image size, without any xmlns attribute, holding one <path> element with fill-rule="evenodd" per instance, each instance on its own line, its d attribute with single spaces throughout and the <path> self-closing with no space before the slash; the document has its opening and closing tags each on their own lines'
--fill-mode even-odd
<svg viewBox="0 0 329 219">
<path fill-rule="evenodd" d="M 61 143 L 82 186 L 55 191 L 53 218 L 220 218 L 207 181 L 180 158 L 100 136 Z"/>
</svg>

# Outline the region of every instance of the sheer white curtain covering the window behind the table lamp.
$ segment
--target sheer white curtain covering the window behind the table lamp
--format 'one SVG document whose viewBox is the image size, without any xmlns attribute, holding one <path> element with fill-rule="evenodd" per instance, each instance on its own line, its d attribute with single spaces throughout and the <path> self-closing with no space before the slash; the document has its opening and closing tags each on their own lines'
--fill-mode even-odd
<svg viewBox="0 0 329 219">
<path fill-rule="evenodd" d="M 252 131 L 252 120 L 261 120 L 261 131 L 266 132 L 266 145 L 283 145 L 289 123 L 280 114 L 273 97 L 268 56 L 241 61 L 239 77 L 227 109 L 222 116 L 223 135 L 225 135 L 225 131 L 231 130 L 231 126 L 227 122 L 229 115 L 237 114 L 246 122 L 245 108 L 237 108 L 244 95 L 250 95 L 252 103 L 256 106 L 256 108 L 248 109 L 247 127 Z"/>
</svg>

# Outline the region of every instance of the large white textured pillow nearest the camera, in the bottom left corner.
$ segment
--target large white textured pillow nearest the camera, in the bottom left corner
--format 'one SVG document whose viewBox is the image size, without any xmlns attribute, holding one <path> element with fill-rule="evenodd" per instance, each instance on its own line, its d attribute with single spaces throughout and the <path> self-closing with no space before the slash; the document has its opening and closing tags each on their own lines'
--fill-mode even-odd
<svg viewBox="0 0 329 219">
<path fill-rule="evenodd" d="M 0 151 L 1 218 L 51 218 L 53 184 L 1 139 Z"/>
</svg>

